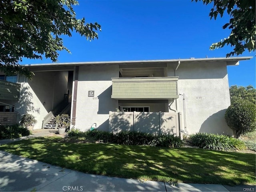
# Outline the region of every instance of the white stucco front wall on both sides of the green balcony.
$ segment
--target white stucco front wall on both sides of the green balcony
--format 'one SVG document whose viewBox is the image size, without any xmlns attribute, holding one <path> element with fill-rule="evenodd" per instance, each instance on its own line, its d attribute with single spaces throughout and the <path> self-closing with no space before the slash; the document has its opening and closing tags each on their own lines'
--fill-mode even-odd
<svg viewBox="0 0 256 192">
<path fill-rule="evenodd" d="M 167 64 L 166 75 L 175 76 L 175 68 L 176 65 Z M 89 130 L 96 123 L 99 130 L 108 130 L 108 111 L 116 111 L 118 107 L 118 100 L 111 99 L 111 78 L 118 77 L 118 74 L 118 65 L 79 67 L 76 128 Z M 184 94 L 186 112 L 181 95 L 177 104 L 174 102 L 172 105 L 172 109 L 176 108 L 177 112 L 182 113 L 182 129 L 186 126 L 188 134 L 232 134 L 224 120 L 225 110 L 230 105 L 226 62 L 181 62 L 176 76 L 179 77 L 178 92 Z M 94 97 L 88 97 L 89 90 L 94 90 Z M 138 102 L 120 104 L 141 105 Z M 142 105 L 150 106 L 150 111 L 168 111 L 167 104 Z"/>
</svg>

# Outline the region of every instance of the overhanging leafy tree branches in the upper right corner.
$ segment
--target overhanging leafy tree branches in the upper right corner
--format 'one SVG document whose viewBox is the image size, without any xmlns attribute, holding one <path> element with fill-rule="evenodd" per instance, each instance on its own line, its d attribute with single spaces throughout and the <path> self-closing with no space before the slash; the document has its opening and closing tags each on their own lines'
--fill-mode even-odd
<svg viewBox="0 0 256 192">
<path fill-rule="evenodd" d="M 193 0 L 192 0 L 193 1 Z M 222 48 L 225 45 L 234 46 L 234 51 L 226 54 L 230 57 L 242 54 L 245 50 L 249 52 L 255 51 L 256 39 L 256 20 L 255 20 L 255 0 L 194 0 L 202 1 L 204 4 L 213 3 L 210 11 L 210 19 L 216 20 L 217 16 L 223 16 L 226 11 L 230 15 L 228 23 L 222 26 L 223 29 L 230 29 L 231 33 L 224 40 L 214 43 L 210 46 L 210 50 Z"/>
</svg>

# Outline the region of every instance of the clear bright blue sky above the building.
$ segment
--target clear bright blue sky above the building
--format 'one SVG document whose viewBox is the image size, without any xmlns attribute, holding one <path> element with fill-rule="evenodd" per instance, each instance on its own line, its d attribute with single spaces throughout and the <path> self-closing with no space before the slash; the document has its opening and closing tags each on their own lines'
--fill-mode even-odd
<svg viewBox="0 0 256 192">
<path fill-rule="evenodd" d="M 232 48 L 209 50 L 212 43 L 228 37 L 222 26 L 225 15 L 210 20 L 212 5 L 190 0 L 79 0 L 74 6 L 77 18 L 98 22 L 99 39 L 87 41 L 75 32 L 64 36 L 70 50 L 60 52 L 58 62 L 156 60 L 226 57 Z M 229 85 L 255 87 L 255 52 L 239 66 L 228 66 Z M 51 63 L 50 59 L 24 59 L 22 64 Z"/>
</svg>

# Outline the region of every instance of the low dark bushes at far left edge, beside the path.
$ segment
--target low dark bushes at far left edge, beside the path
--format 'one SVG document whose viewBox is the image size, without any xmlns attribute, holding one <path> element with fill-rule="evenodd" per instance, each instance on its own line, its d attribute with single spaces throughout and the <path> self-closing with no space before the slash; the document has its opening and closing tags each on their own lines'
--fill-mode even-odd
<svg viewBox="0 0 256 192">
<path fill-rule="evenodd" d="M 28 130 L 28 128 L 18 124 L 10 126 L 0 125 L 0 139 L 14 139 L 21 136 L 28 136 L 30 134 L 31 132 Z"/>
</svg>

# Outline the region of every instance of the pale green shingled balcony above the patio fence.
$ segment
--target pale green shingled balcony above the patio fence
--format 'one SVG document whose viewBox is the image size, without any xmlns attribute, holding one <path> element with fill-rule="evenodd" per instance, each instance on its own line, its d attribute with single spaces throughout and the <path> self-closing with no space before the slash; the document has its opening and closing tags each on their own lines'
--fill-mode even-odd
<svg viewBox="0 0 256 192">
<path fill-rule="evenodd" d="M 112 78 L 113 99 L 166 100 L 178 98 L 178 77 Z"/>
</svg>

